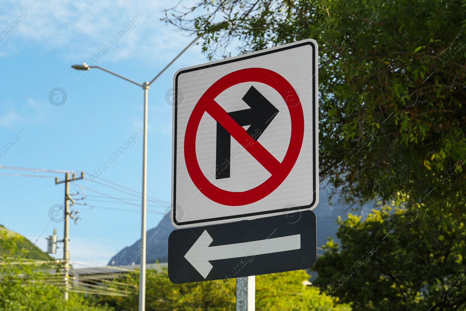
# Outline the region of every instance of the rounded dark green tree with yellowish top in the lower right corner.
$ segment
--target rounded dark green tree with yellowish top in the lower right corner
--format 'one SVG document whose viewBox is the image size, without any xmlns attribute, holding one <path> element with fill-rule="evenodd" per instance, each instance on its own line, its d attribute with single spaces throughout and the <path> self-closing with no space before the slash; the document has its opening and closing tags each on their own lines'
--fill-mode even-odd
<svg viewBox="0 0 466 311">
<path fill-rule="evenodd" d="M 408 209 L 403 200 L 365 221 L 339 221 L 341 245 L 327 242 L 314 283 L 355 310 L 465 310 L 465 215 L 446 215 L 445 225 L 425 204 Z"/>
</svg>

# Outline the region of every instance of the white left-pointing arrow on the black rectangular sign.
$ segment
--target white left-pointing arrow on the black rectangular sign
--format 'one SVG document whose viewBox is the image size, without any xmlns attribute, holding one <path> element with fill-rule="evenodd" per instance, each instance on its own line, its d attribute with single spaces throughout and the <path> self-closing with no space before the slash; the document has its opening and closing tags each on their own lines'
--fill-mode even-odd
<svg viewBox="0 0 466 311">
<path fill-rule="evenodd" d="M 288 235 L 259 241 L 209 246 L 212 241 L 212 237 L 204 230 L 185 255 L 186 260 L 204 278 L 207 277 L 213 268 L 209 261 L 251 256 L 249 251 L 254 250 L 257 246 L 260 247 L 260 250 L 256 251 L 256 255 L 301 249 L 301 235 Z"/>
</svg>

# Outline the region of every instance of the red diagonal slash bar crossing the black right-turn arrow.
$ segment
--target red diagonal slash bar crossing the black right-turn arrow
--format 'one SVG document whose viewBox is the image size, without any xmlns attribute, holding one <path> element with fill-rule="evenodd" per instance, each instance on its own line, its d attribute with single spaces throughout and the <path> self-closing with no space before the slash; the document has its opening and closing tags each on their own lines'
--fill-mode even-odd
<svg viewBox="0 0 466 311">
<path fill-rule="evenodd" d="M 281 163 L 264 146 L 255 141 L 240 124 L 236 123 L 219 104 L 212 101 L 208 104 L 206 112 L 219 122 L 269 173 L 273 175 L 280 169 Z"/>
</svg>

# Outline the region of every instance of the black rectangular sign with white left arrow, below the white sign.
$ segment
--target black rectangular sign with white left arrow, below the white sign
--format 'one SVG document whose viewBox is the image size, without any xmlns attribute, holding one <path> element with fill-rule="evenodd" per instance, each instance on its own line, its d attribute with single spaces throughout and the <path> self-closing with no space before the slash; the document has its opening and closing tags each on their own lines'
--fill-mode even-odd
<svg viewBox="0 0 466 311">
<path fill-rule="evenodd" d="M 310 210 L 178 229 L 168 238 L 168 276 L 188 283 L 308 269 L 316 246 Z"/>
</svg>

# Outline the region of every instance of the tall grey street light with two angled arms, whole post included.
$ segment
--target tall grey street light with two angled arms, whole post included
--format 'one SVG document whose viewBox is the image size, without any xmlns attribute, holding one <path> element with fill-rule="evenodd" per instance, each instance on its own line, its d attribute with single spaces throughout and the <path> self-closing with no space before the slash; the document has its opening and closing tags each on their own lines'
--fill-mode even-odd
<svg viewBox="0 0 466 311">
<path fill-rule="evenodd" d="M 142 201 L 142 225 L 141 225 L 141 253 L 139 257 L 139 262 L 141 263 L 141 271 L 139 274 L 139 311 L 144 311 L 145 310 L 145 275 L 146 275 L 146 214 L 147 214 L 147 195 L 146 195 L 146 190 L 147 190 L 147 91 L 149 90 L 149 86 L 154 82 L 162 73 L 164 73 L 165 69 L 170 67 L 170 65 L 175 62 L 181 54 L 185 53 L 185 51 L 191 47 L 194 42 L 196 42 L 200 36 L 197 36 L 191 43 L 189 43 L 184 50 L 182 50 L 168 65 L 165 66 L 162 71 L 158 73 L 157 76 L 155 76 L 151 82 L 144 82 L 144 83 L 137 83 L 131 79 L 128 79 L 124 76 L 118 75 L 117 73 L 110 71 L 108 69 L 105 69 L 100 66 L 89 66 L 85 62 L 82 63 L 82 65 L 72 65 L 71 67 L 77 70 L 89 70 L 91 68 L 98 68 L 102 69 L 103 71 L 107 71 L 108 73 L 120 77 L 126 81 L 129 81 L 131 83 L 134 83 L 136 85 L 139 85 L 140 87 L 143 88 L 144 90 L 144 147 L 143 147 L 143 191 L 142 191 L 142 196 L 143 196 L 143 201 Z"/>
</svg>

